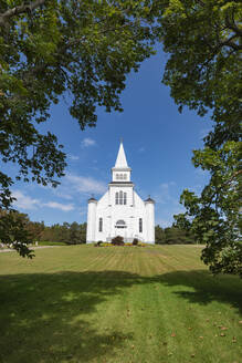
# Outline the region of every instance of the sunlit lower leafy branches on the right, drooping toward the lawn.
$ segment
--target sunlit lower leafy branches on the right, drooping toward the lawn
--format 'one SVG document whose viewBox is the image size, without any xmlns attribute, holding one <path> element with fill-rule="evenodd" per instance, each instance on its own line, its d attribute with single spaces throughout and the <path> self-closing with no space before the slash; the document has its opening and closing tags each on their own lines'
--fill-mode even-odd
<svg viewBox="0 0 242 363">
<path fill-rule="evenodd" d="M 212 272 L 242 277 L 240 146 L 227 142 L 219 151 L 206 147 L 194 152 L 193 164 L 210 172 L 210 183 L 201 196 L 183 190 L 181 203 L 187 211 L 175 219 L 206 245 L 201 258 Z"/>
</svg>

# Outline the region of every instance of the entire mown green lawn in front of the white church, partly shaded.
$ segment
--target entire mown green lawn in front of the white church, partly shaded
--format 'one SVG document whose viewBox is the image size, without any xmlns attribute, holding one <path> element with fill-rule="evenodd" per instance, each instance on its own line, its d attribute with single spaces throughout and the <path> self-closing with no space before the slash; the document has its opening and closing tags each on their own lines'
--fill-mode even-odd
<svg viewBox="0 0 242 363">
<path fill-rule="evenodd" d="M 239 363 L 242 282 L 194 246 L 0 253 L 0 362 Z"/>
</svg>

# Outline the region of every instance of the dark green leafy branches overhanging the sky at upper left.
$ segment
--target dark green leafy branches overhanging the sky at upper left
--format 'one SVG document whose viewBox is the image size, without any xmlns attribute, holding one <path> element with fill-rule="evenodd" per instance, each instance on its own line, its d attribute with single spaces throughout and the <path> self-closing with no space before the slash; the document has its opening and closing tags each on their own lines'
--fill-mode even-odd
<svg viewBox="0 0 242 363">
<path fill-rule="evenodd" d="M 61 95 L 82 129 L 97 107 L 122 111 L 127 74 L 154 52 L 145 2 L 0 0 L 0 154 L 19 165 L 17 179 L 56 186 L 63 176 L 62 145 L 40 132 Z M 13 183 L 0 172 L 0 208 Z"/>
</svg>

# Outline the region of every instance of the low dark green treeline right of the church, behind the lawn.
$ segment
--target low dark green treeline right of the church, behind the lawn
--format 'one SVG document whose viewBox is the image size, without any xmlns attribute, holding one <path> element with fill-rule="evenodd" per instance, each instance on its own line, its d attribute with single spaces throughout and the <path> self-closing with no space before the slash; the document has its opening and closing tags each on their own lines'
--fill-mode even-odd
<svg viewBox="0 0 242 363">
<path fill-rule="evenodd" d="M 155 238 L 157 245 L 186 245 L 194 243 L 191 234 L 177 227 L 161 228 L 159 225 L 155 229 Z"/>
</svg>

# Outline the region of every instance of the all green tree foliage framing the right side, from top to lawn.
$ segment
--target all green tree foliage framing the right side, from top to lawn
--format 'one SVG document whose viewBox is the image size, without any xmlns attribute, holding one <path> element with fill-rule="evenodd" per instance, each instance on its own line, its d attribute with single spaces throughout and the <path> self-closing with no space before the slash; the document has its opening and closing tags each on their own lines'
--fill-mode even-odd
<svg viewBox="0 0 242 363">
<path fill-rule="evenodd" d="M 240 1 L 171 0 L 159 18 L 164 50 L 169 53 L 164 83 L 182 111 L 210 112 L 213 129 L 192 163 L 210 173 L 200 196 L 181 195 L 187 208 L 175 216 L 197 241 L 213 272 L 242 274 L 239 224 L 239 143 L 242 114 L 242 4 Z"/>
</svg>

